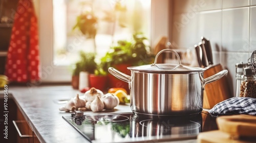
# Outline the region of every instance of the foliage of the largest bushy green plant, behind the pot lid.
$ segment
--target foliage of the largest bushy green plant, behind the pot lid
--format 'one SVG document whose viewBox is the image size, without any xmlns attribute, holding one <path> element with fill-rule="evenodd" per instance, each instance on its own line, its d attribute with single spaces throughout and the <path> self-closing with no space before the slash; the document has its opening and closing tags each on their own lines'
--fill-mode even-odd
<svg viewBox="0 0 256 143">
<path fill-rule="evenodd" d="M 154 55 L 150 54 L 150 46 L 145 44 L 142 33 L 135 33 L 133 40 L 120 40 L 116 46 L 112 46 L 109 52 L 101 58 L 102 68 L 108 68 L 116 64 L 130 64 L 132 66 L 150 64 L 154 60 Z"/>
</svg>

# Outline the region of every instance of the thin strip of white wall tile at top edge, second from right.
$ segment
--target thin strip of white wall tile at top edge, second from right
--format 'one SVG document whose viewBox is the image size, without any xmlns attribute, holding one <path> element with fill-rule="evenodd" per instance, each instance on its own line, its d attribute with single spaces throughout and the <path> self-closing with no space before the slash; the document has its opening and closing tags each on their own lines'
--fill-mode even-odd
<svg viewBox="0 0 256 143">
<path fill-rule="evenodd" d="M 223 0 L 222 8 L 236 8 L 250 5 L 250 0 Z"/>
</svg>

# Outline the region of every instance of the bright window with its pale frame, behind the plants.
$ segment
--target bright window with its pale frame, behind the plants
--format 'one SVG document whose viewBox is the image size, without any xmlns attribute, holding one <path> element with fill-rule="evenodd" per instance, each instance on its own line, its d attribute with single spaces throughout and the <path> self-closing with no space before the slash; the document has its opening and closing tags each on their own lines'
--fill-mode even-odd
<svg viewBox="0 0 256 143">
<path fill-rule="evenodd" d="M 131 39 L 134 31 L 143 32 L 151 45 L 168 36 L 168 0 L 46 0 L 37 7 L 44 82 L 71 81 L 70 64 L 80 50 L 96 52 L 99 59 L 117 40 Z M 95 38 L 74 29 L 81 13 L 97 18 Z"/>
</svg>

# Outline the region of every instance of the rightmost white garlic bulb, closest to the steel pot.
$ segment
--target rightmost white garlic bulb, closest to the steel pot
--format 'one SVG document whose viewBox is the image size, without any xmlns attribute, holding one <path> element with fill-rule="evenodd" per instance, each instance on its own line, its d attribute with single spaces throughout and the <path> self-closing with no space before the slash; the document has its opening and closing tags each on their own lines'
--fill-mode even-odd
<svg viewBox="0 0 256 143">
<path fill-rule="evenodd" d="M 106 93 L 105 96 L 102 98 L 102 101 L 104 103 L 105 109 L 113 109 L 119 104 L 119 99 L 117 96 L 114 96 L 111 93 Z"/>
</svg>

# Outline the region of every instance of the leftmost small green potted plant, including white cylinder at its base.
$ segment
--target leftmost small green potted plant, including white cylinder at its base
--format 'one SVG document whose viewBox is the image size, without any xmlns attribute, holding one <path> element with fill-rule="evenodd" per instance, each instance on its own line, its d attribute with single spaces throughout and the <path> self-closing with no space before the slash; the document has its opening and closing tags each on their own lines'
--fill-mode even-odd
<svg viewBox="0 0 256 143">
<path fill-rule="evenodd" d="M 89 74 L 93 74 L 96 68 L 95 53 L 80 51 L 80 60 L 75 63 L 72 73 L 73 88 L 80 90 L 89 86 Z"/>
</svg>

